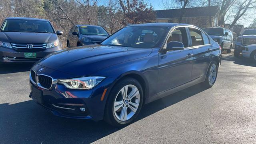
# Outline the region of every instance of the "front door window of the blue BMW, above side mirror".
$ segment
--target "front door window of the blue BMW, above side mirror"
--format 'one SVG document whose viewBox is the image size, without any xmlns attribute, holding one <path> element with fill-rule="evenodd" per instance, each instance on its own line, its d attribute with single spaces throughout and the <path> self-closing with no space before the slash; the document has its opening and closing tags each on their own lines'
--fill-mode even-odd
<svg viewBox="0 0 256 144">
<path fill-rule="evenodd" d="M 177 28 L 176 30 L 174 30 L 172 34 L 169 36 L 169 38 L 167 39 L 167 42 L 164 45 L 165 48 L 170 41 L 182 42 L 184 47 L 187 48 L 188 37 L 186 33 L 186 28 Z"/>
</svg>

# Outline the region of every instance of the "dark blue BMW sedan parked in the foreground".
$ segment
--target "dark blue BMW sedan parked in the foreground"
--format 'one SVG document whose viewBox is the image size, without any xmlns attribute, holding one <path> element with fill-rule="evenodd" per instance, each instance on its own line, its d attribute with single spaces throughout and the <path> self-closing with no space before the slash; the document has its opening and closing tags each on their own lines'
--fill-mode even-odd
<svg viewBox="0 0 256 144">
<path fill-rule="evenodd" d="M 56 116 L 125 126 L 144 104 L 195 84 L 212 87 L 221 58 L 218 43 L 195 26 L 127 26 L 101 44 L 38 61 L 30 98 Z"/>
</svg>

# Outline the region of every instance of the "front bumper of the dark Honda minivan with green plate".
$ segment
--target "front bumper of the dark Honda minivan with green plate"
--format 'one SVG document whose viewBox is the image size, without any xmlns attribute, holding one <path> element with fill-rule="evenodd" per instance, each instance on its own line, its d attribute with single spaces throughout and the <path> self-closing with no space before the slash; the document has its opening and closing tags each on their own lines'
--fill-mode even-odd
<svg viewBox="0 0 256 144">
<path fill-rule="evenodd" d="M 0 63 L 34 63 L 38 60 L 44 58 L 52 52 L 62 50 L 62 46 L 56 46 L 54 48 L 48 48 L 43 51 L 32 51 L 32 50 L 23 50 L 22 52 L 16 51 L 10 48 L 0 47 Z M 24 53 L 26 52 L 36 52 L 36 58 L 24 58 Z M 8 57 L 8 60 L 3 60 L 3 57 Z"/>
</svg>

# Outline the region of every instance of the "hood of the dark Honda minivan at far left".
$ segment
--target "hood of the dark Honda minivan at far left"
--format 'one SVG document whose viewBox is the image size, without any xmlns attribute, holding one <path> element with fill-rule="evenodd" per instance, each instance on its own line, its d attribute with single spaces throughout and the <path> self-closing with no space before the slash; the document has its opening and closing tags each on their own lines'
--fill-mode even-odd
<svg viewBox="0 0 256 144">
<path fill-rule="evenodd" d="M 55 42 L 56 34 L 30 32 L 0 32 L 0 41 L 13 43 Z"/>
</svg>

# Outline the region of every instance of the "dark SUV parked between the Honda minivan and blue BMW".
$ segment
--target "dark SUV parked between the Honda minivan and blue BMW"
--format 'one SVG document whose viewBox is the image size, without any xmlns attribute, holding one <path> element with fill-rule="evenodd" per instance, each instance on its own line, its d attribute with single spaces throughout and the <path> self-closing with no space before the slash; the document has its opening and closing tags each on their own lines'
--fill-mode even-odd
<svg viewBox="0 0 256 144">
<path fill-rule="evenodd" d="M 76 25 L 68 33 L 67 47 L 99 44 L 109 36 L 100 26 Z"/>
</svg>

